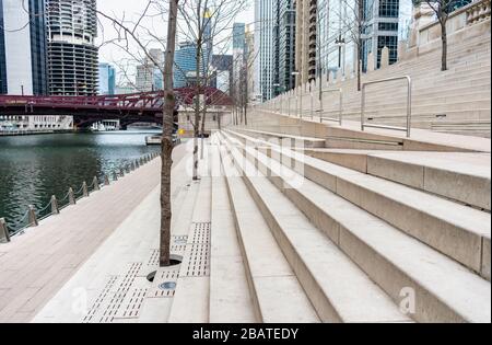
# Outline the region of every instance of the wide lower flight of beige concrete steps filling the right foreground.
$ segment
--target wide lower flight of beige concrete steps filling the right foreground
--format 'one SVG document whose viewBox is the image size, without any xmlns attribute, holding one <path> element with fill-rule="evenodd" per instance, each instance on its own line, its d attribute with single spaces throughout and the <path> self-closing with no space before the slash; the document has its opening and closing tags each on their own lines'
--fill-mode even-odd
<svg viewBox="0 0 492 345">
<path fill-rule="evenodd" d="M 212 136 L 206 321 L 491 322 L 490 153 L 315 143 Z"/>
</svg>

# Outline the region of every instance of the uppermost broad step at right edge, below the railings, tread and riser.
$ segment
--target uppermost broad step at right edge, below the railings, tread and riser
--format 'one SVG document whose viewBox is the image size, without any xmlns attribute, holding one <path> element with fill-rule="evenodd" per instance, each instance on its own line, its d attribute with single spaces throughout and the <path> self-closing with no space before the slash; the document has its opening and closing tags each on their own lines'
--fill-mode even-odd
<svg viewBox="0 0 492 345">
<path fill-rule="evenodd" d="M 305 154 L 491 210 L 489 153 L 305 149 Z"/>
</svg>

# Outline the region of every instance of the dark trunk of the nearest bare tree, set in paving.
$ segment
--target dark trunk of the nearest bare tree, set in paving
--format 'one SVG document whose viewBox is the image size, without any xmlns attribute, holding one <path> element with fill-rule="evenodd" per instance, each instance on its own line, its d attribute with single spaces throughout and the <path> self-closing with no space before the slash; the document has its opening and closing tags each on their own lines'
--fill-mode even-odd
<svg viewBox="0 0 492 345">
<path fill-rule="evenodd" d="M 160 266 L 171 265 L 171 169 L 173 166 L 173 118 L 176 97 L 173 85 L 173 65 L 176 47 L 176 22 L 178 0 L 169 1 L 167 26 L 167 48 L 164 66 L 164 108 L 162 126 L 162 170 L 161 170 L 161 243 Z"/>
</svg>

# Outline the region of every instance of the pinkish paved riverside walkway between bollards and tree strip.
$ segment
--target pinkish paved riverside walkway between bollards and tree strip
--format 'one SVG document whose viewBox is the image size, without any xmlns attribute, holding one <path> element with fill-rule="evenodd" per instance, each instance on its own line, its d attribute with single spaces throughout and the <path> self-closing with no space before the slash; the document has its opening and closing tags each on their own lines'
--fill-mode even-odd
<svg viewBox="0 0 492 345">
<path fill-rule="evenodd" d="M 176 148 L 175 164 L 185 154 L 185 146 Z M 160 159 L 152 160 L 0 244 L 0 323 L 32 321 L 139 207 L 159 200 L 160 164 Z M 156 221 L 159 208 L 151 210 L 151 221 Z M 147 216 L 133 219 L 136 233 L 141 230 L 138 220 Z"/>
</svg>

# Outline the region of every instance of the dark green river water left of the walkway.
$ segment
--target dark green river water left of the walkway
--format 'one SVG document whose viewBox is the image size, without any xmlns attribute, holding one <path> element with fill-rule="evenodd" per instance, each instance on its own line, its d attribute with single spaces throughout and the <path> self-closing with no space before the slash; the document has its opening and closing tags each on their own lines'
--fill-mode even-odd
<svg viewBox="0 0 492 345">
<path fill-rule="evenodd" d="M 80 189 L 143 154 L 156 131 L 114 131 L 0 137 L 0 218 L 14 222 L 27 210 L 62 199 L 71 186 Z"/>
</svg>

